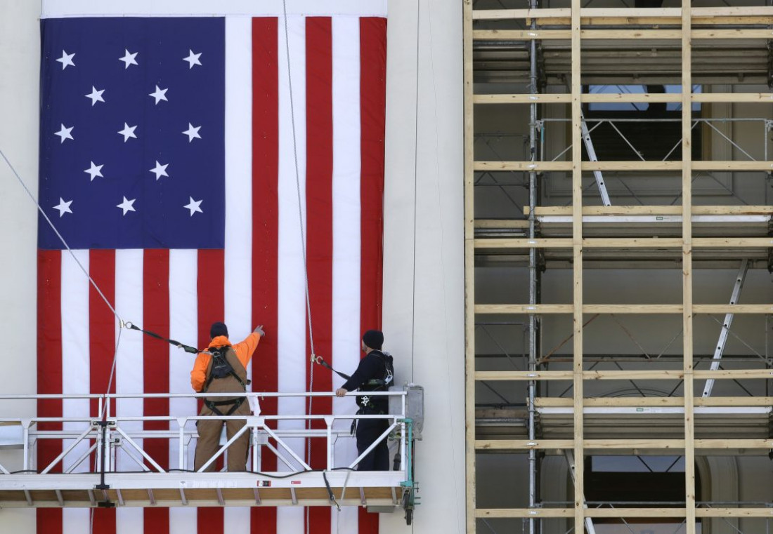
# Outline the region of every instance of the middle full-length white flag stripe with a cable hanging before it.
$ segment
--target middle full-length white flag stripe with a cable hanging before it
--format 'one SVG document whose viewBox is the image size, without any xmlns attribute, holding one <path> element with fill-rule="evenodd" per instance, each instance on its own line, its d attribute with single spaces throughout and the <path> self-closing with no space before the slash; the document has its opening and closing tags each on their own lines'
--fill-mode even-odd
<svg viewBox="0 0 773 534">
<path fill-rule="evenodd" d="M 279 19 L 278 389 L 284 393 L 298 393 L 305 391 L 308 387 L 306 384 L 305 266 L 301 248 L 301 220 L 298 214 L 300 209 L 301 214 L 304 214 L 303 225 L 305 225 L 305 18 L 289 17 L 287 25 L 289 43 L 285 40 L 284 20 Z M 289 72 L 288 46 L 290 51 Z M 293 135 L 294 123 L 295 136 Z M 300 191 L 298 191 L 298 187 Z M 299 194 L 300 206 L 298 205 Z M 303 397 L 280 398 L 278 400 L 278 413 L 305 414 L 305 404 L 306 401 Z M 280 424 L 280 428 L 305 427 L 305 421 L 283 423 Z M 291 444 L 291 447 L 301 458 L 305 456 L 304 440 L 288 440 L 288 444 Z M 286 470 L 286 467 L 281 464 L 278 468 L 281 471 Z M 301 534 L 303 526 L 303 509 L 282 507 L 277 510 L 277 532 Z"/>
</svg>

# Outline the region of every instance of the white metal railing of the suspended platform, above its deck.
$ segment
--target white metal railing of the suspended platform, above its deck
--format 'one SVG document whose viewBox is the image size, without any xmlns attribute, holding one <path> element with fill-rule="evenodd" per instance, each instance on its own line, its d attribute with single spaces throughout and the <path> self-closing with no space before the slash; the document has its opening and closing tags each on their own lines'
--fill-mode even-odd
<svg viewBox="0 0 773 534">
<path fill-rule="evenodd" d="M 88 417 L 0 417 L 0 427 L 21 428 L 21 437 L 17 443 L 5 443 L 5 448 L 22 449 L 22 470 L 14 473 L 29 473 L 46 475 L 52 473 L 57 465 L 62 465 L 62 472 L 73 473 L 81 465 L 87 465 L 87 471 L 83 468 L 78 470 L 80 474 L 87 473 L 119 473 L 117 470 L 117 456 L 125 455 L 127 459 L 134 461 L 138 468 L 144 472 L 167 473 L 169 469 L 162 467 L 165 461 L 157 461 L 148 451 L 138 443 L 142 439 L 162 439 L 169 441 L 169 451 L 177 451 L 178 469 L 177 471 L 191 471 L 189 468 L 189 445 L 197 438 L 197 431 L 193 428 L 186 428 L 189 424 L 196 424 L 198 421 L 206 420 L 239 420 L 246 421 L 246 424 L 237 434 L 234 434 L 229 440 L 221 444 L 216 453 L 202 465 L 198 472 L 206 470 L 213 462 L 222 457 L 227 448 L 233 444 L 243 434 L 250 435 L 250 458 L 248 460 L 249 470 L 253 472 L 261 471 L 261 458 L 264 449 L 271 452 L 278 461 L 280 461 L 289 471 L 330 471 L 338 468 L 354 469 L 363 458 L 373 451 L 378 444 L 388 441 L 390 436 L 397 441 L 397 448 L 400 452 L 400 469 L 407 480 L 410 473 L 410 455 L 407 455 L 407 440 L 410 436 L 410 419 L 406 418 L 406 393 L 404 391 L 390 392 L 352 392 L 346 394 L 346 397 L 358 397 L 368 395 L 369 397 L 400 397 L 399 413 L 393 414 L 262 414 L 260 401 L 267 397 L 333 397 L 333 393 L 222 393 L 222 394 L 29 394 L 29 395 L 0 395 L 0 406 L 3 404 L 19 401 L 45 401 L 45 400 L 81 400 L 97 401 L 89 402 L 90 415 Z M 237 398 L 246 397 L 250 404 L 251 412 L 249 416 L 230 415 L 230 416 L 201 416 L 195 412 L 190 415 L 133 415 L 133 414 L 114 414 L 117 401 L 125 399 L 145 400 L 145 399 L 199 399 L 203 397 L 215 398 Z M 394 406 L 397 403 L 390 403 Z M 94 406 L 96 405 L 96 410 Z M 335 428 L 335 423 L 345 421 L 363 421 L 366 419 L 383 419 L 388 423 L 386 431 L 380 435 L 376 441 L 363 453 L 356 458 L 347 459 L 344 465 L 335 465 L 335 445 L 339 439 L 353 440 L 349 431 L 349 425 L 346 428 Z M 305 428 L 281 428 L 281 421 L 302 421 Z M 323 421 L 325 428 L 310 428 L 312 421 Z M 169 424 L 169 430 L 145 430 L 138 427 L 144 427 L 148 422 L 162 422 Z M 40 430 L 41 424 L 60 424 L 61 428 L 56 430 Z M 325 465 L 312 466 L 310 461 L 303 458 L 303 453 L 294 449 L 288 440 L 290 439 L 325 439 Z M 59 455 L 45 466 L 37 465 L 37 448 L 42 440 L 65 440 L 63 449 Z M 271 441 L 274 443 L 271 443 Z M 83 446 L 85 444 L 85 447 Z M 80 445 L 80 446 L 79 446 Z M 73 459 L 74 458 L 74 459 Z M 94 458 L 90 461 L 89 458 Z M 171 459 L 171 458 L 170 458 Z M 146 463 L 147 462 L 147 465 Z M 42 467 L 42 468 L 40 468 Z M 172 469 L 174 471 L 174 469 Z M 0 477 L 2 475 L 11 475 L 4 465 L 0 464 Z M 0 478 L 2 480 L 2 478 Z"/>
</svg>

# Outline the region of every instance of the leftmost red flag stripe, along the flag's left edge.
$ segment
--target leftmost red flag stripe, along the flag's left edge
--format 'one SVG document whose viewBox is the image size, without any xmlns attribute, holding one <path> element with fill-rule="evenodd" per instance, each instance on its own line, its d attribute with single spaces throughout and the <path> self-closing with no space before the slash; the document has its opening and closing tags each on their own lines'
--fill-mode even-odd
<svg viewBox="0 0 773 534">
<path fill-rule="evenodd" d="M 38 393 L 62 394 L 62 253 L 38 251 Z M 39 417 L 62 417 L 62 401 L 38 401 Z M 61 430 L 60 423 L 41 423 L 38 430 Z M 62 451 L 62 440 L 38 442 L 38 469 L 43 470 Z M 53 469 L 61 472 L 61 465 Z M 62 510 L 39 508 L 37 532 L 62 532 Z"/>
</svg>

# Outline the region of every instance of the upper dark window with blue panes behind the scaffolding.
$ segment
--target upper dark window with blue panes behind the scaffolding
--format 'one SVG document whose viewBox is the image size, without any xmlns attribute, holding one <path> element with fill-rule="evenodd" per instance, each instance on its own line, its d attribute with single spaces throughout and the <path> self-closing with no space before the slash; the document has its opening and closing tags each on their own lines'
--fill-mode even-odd
<svg viewBox="0 0 773 534">
<path fill-rule="evenodd" d="M 680 86 L 585 86 L 584 92 L 679 93 Z M 693 87 L 693 93 L 700 93 L 700 86 Z M 700 118 L 700 113 L 700 103 L 693 103 L 693 120 Z M 596 126 L 598 120 L 611 120 L 620 130 L 618 133 L 609 122 L 604 122 L 591 132 L 591 141 L 599 161 L 638 161 L 638 155 L 628 143 L 635 147 L 646 161 L 682 159 L 680 103 L 585 103 L 583 115 L 588 130 Z M 693 161 L 701 159 L 701 130 L 700 124 L 693 127 Z M 583 160 L 588 160 L 585 144 Z"/>
</svg>

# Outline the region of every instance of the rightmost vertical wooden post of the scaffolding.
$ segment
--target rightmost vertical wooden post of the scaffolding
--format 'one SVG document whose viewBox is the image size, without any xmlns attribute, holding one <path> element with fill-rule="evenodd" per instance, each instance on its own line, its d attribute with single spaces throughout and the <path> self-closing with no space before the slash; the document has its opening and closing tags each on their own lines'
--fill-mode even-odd
<svg viewBox="0 0 773 534">
<path fill-rule="evenodd" d="M 693 387 L 693 79 L 692 7 L 682 0 L 682 302 L 686 534 L 695 534 Z"/>
</svg>

